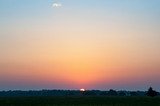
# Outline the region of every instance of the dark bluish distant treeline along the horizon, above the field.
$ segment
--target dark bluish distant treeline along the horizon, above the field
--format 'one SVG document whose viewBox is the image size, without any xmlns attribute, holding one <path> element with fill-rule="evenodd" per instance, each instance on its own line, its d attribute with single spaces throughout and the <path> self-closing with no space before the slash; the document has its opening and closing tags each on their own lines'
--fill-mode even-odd
<svg viewBox="0 0 160 106">
<path fill-rule="evenodd" d="M 18 97 L 18 96 L 158 96 L 160 93 L 150 87 L 148 91 L 109 91 L 100 90 L 40 90 L 40 91 L 0 91 L 0 97 Z"/>
</svg>

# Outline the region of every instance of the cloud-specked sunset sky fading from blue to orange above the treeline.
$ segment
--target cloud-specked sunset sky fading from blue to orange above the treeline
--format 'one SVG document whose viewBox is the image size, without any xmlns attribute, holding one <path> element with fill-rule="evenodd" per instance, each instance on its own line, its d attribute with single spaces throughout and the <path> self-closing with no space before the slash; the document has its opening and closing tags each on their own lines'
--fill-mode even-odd
<svg viewBox="0 0 160 106">
<path fill-rule="evenodd" d="M 0 0 L 0 90 L 160 91 L 160 0 Z"/>
</svg>

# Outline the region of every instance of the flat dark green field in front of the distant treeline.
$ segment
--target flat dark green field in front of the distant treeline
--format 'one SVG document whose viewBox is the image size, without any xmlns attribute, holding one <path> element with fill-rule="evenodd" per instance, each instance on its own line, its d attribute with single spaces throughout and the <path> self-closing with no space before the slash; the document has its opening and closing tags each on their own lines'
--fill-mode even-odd
<svg viewBox="0 0 160 106">
<path fill-rule="evenodd" d="M 160 97 L 0 97 L 0 106 L 160 106 Z"/>
</svg>

